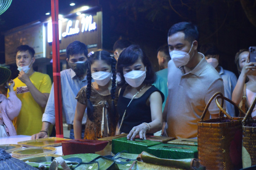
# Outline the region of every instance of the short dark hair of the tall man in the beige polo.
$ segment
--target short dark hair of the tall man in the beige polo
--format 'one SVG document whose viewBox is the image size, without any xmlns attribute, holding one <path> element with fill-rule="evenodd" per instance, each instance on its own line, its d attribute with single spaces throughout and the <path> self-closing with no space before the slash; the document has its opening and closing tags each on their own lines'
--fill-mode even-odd
<svg viewBox="0 0 256 170">
<path fill-rule="evenodd" d="M 168 31 L 168 37 L 175 34 L 176 32 L 183 32 L 185 34 L 185 40 L 192 43 L 194 40 L 198 41 L 198 30 L 195 24 L 191 22 L 179 22 L 171 26 Z"/>
</svg>

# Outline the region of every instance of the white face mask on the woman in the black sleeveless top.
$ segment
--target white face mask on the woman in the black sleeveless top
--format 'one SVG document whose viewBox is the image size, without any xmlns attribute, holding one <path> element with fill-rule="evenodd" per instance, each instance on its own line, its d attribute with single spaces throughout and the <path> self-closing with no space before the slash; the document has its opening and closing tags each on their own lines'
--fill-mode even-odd
<svg viewBox="0 0 256 170">
<path fill-rule="evenodd" d="M 139 87 L 146 78 L 146 67 L 145 71 L 133 70 L 124 75 L 126 83 L 131 87 Z"/>
</svg>

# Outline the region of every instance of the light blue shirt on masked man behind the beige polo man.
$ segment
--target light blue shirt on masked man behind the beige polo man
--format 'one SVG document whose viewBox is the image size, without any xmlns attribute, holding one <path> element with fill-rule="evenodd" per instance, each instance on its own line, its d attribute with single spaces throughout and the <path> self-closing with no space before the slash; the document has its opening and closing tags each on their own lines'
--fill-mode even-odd
<svg viewBox="0 0 256 170">
<path fill-rule="evenodd" d="M 235 76 L 234 73 L 228 70 L 224 70 L 221 66 L 218 66 L 220 69 L 220 76 L 223 79 L 224 83 L 224 96 L 227 97 L 228 99 L 232 100 L 232 93 L 235 88 L 235 85 L 237 84 L 237 76 Z M 226 103 L 226 110 L 227 113 L 234 117 L 235 116 L 235 107 L 232 105 L 230 102 L 225 102 Z"/>
</svg>

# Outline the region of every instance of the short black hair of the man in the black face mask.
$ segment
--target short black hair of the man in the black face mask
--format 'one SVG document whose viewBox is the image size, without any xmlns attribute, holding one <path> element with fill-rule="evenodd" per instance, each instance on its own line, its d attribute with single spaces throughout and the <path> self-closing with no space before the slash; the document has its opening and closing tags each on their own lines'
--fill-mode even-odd
<svg viewBox="0 0 256 170">
<path fill-rule="evenodd" d="M 85 54 L 86 58 L 88 57 L 88 49 L 87 46 L 80 41 L 71 42 L 66 48 L 66 55 L 69 59 L 70 56 L 74 54 Z"/>
</svg>

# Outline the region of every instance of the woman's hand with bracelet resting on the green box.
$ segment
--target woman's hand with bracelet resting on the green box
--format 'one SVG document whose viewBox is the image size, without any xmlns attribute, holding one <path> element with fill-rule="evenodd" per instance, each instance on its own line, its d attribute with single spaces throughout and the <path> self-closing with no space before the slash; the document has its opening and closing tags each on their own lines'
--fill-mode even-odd
<svg viewBox="0 0 256 170">
<path fill-rule="evenodd" d="M 142 123 L 131 129 L 130 133 L 127 135 L 127 139 L 131 139 L 132 141 L 136 135 L 140 135 L 140 139 L 147 139 L 146 133 L 148 130 L 149 130 L 149 127 L 146 124 Z"/>
</svg>

